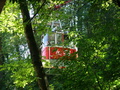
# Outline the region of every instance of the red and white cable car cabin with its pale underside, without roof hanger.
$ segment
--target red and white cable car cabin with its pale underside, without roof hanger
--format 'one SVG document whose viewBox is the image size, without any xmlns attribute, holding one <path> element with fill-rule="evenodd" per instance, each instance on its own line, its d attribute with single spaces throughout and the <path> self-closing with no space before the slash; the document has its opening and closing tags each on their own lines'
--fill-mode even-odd
<svg viewBox="0 0 120 90">
<path fill-rule="evenodd" d="M 75 48 L 63 46 L 66 40 L 68 40 L 67 35 L 60 32 L 52 32 L 52 34 L 44 36 L 42 47 L 42 57 L 45 60 L 43 62 L 44 67 L 54 68 L 57 64 L 57 67 L 63 69 L 66 67 L 64 60 L 70 61 L 76 58 Z"/>
</svg>

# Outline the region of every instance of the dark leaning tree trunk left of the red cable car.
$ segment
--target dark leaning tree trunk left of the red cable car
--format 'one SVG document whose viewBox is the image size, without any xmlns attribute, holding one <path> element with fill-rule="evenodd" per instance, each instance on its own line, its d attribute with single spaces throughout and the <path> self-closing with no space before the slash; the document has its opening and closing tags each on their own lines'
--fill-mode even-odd
<svg viewBox="0 0 120 90">
<path fill-rule="evenodd" d="M 29 46 L 30 53 L 31 53 L 32 63 L 33 63 L 35 72 L 38 77 L 37 79 L 38 85 L 41 90 L 48 90 L 46 82 L 45 82 L 46 76 L 43 70 L 40 52 L 38 50 L 38 47 L 37 47 L 37 44 L 36 44 L 36 41 L 33 35 L 31 22 L 29 22 L 30 14 L 28 11 L 27 2 L 26 0 L 20 0 L 19 4 L 20 4 L 22 17 L 23 17 L 24 32 L 25 32 L 28 46 Z"/>
</svg>

